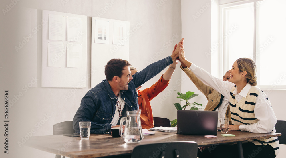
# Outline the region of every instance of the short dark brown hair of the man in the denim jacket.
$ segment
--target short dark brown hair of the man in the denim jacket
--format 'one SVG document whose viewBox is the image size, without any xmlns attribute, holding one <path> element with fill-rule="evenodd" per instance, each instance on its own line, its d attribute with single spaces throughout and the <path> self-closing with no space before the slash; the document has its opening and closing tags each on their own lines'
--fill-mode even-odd
<svg viewBox="0 0 286 158">
<path fill-rule="evenodd" d="M 122 70 L 126 66 L 131 66 L 131 64 L 127 60 L 122 60 L 122 59 L 109 60 L 104 69 L 106 80 L 111 81 L 114 76 L 121 77 L 123 74 Z"/>
</svg>

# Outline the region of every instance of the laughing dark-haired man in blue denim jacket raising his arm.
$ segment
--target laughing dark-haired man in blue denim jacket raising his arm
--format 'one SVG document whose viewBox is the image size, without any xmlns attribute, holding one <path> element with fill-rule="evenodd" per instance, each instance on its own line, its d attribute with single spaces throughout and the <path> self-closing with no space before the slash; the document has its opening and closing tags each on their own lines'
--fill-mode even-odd
<svg viewBox="0 0 286 158">
<path fill-rule="evenodd" d="M 177 48 L 171 56 L 150 64 L 133 76 L 129 62 L 110 60 L 105 67 L 106 80 L 102 80 L 82 98 L 74 116 L 74 130 L 79 133 L 80 121 L 91 121 L 90 133 L 107 133 L 111 127 L 119 127 L 120 118 L 126 116 L 126 111 L 139 109 L 136 88 L 175 62 L 180 49 Z"/>
</svg>

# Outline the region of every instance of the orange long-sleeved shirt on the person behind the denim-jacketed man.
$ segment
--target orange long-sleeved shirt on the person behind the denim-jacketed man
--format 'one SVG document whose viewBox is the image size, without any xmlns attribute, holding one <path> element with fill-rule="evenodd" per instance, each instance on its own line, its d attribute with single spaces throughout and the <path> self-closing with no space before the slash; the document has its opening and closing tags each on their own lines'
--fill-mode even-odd
<svg viewBox="0 0 286 158">
<path fill-rule="evenodd" d="M 142 129 L 154 127 L 153 113 L 150 101 L 159 93 L 163 92 L 163 90 L 168 86 L 170 81 L 164 80 L 162 76 L 160 80 L 158 80 L 150 88 L 138 90 L 138 104 L 139 109 L 141 109 L 140 120 Z"/>
</svg>

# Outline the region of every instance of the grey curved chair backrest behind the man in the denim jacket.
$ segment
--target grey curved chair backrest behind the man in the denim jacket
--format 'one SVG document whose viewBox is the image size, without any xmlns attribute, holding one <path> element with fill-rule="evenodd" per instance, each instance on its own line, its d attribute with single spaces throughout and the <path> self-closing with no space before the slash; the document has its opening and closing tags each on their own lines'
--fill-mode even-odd
<svg viewBox="0 0 286 158">
<path fill-rule="evenodd" d="M 53 125 L 53 135 L 72 134 L 76 131 L 72 126 L 73 121 L 64 121 Z"/>
</svg>

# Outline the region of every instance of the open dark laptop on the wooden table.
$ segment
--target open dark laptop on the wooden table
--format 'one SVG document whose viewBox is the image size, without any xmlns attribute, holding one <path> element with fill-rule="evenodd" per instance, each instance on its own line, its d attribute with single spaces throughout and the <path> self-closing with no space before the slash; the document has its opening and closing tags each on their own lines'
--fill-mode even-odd
<svg viewBox="0 0 286 158">
<path fill-rule="evenodd" d="M 178 110 L 178 134 L 217 135 L 217 111 Z"/>
</svg>

